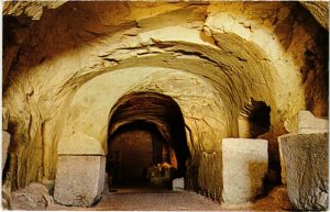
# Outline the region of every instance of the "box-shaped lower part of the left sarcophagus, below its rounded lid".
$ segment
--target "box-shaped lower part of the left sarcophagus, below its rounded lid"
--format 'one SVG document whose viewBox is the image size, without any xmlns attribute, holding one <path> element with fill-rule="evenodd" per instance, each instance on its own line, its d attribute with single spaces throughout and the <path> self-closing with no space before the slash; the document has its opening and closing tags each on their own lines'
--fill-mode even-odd
<svg viewBox="0 0 330 212">
<path fill-rule="evenodd" d="M 92 205 L 101 198 L 105 175 L 106 157 L 103 156 L 58 156 L 55 201 L 64 205 Z"/>
</svg>

